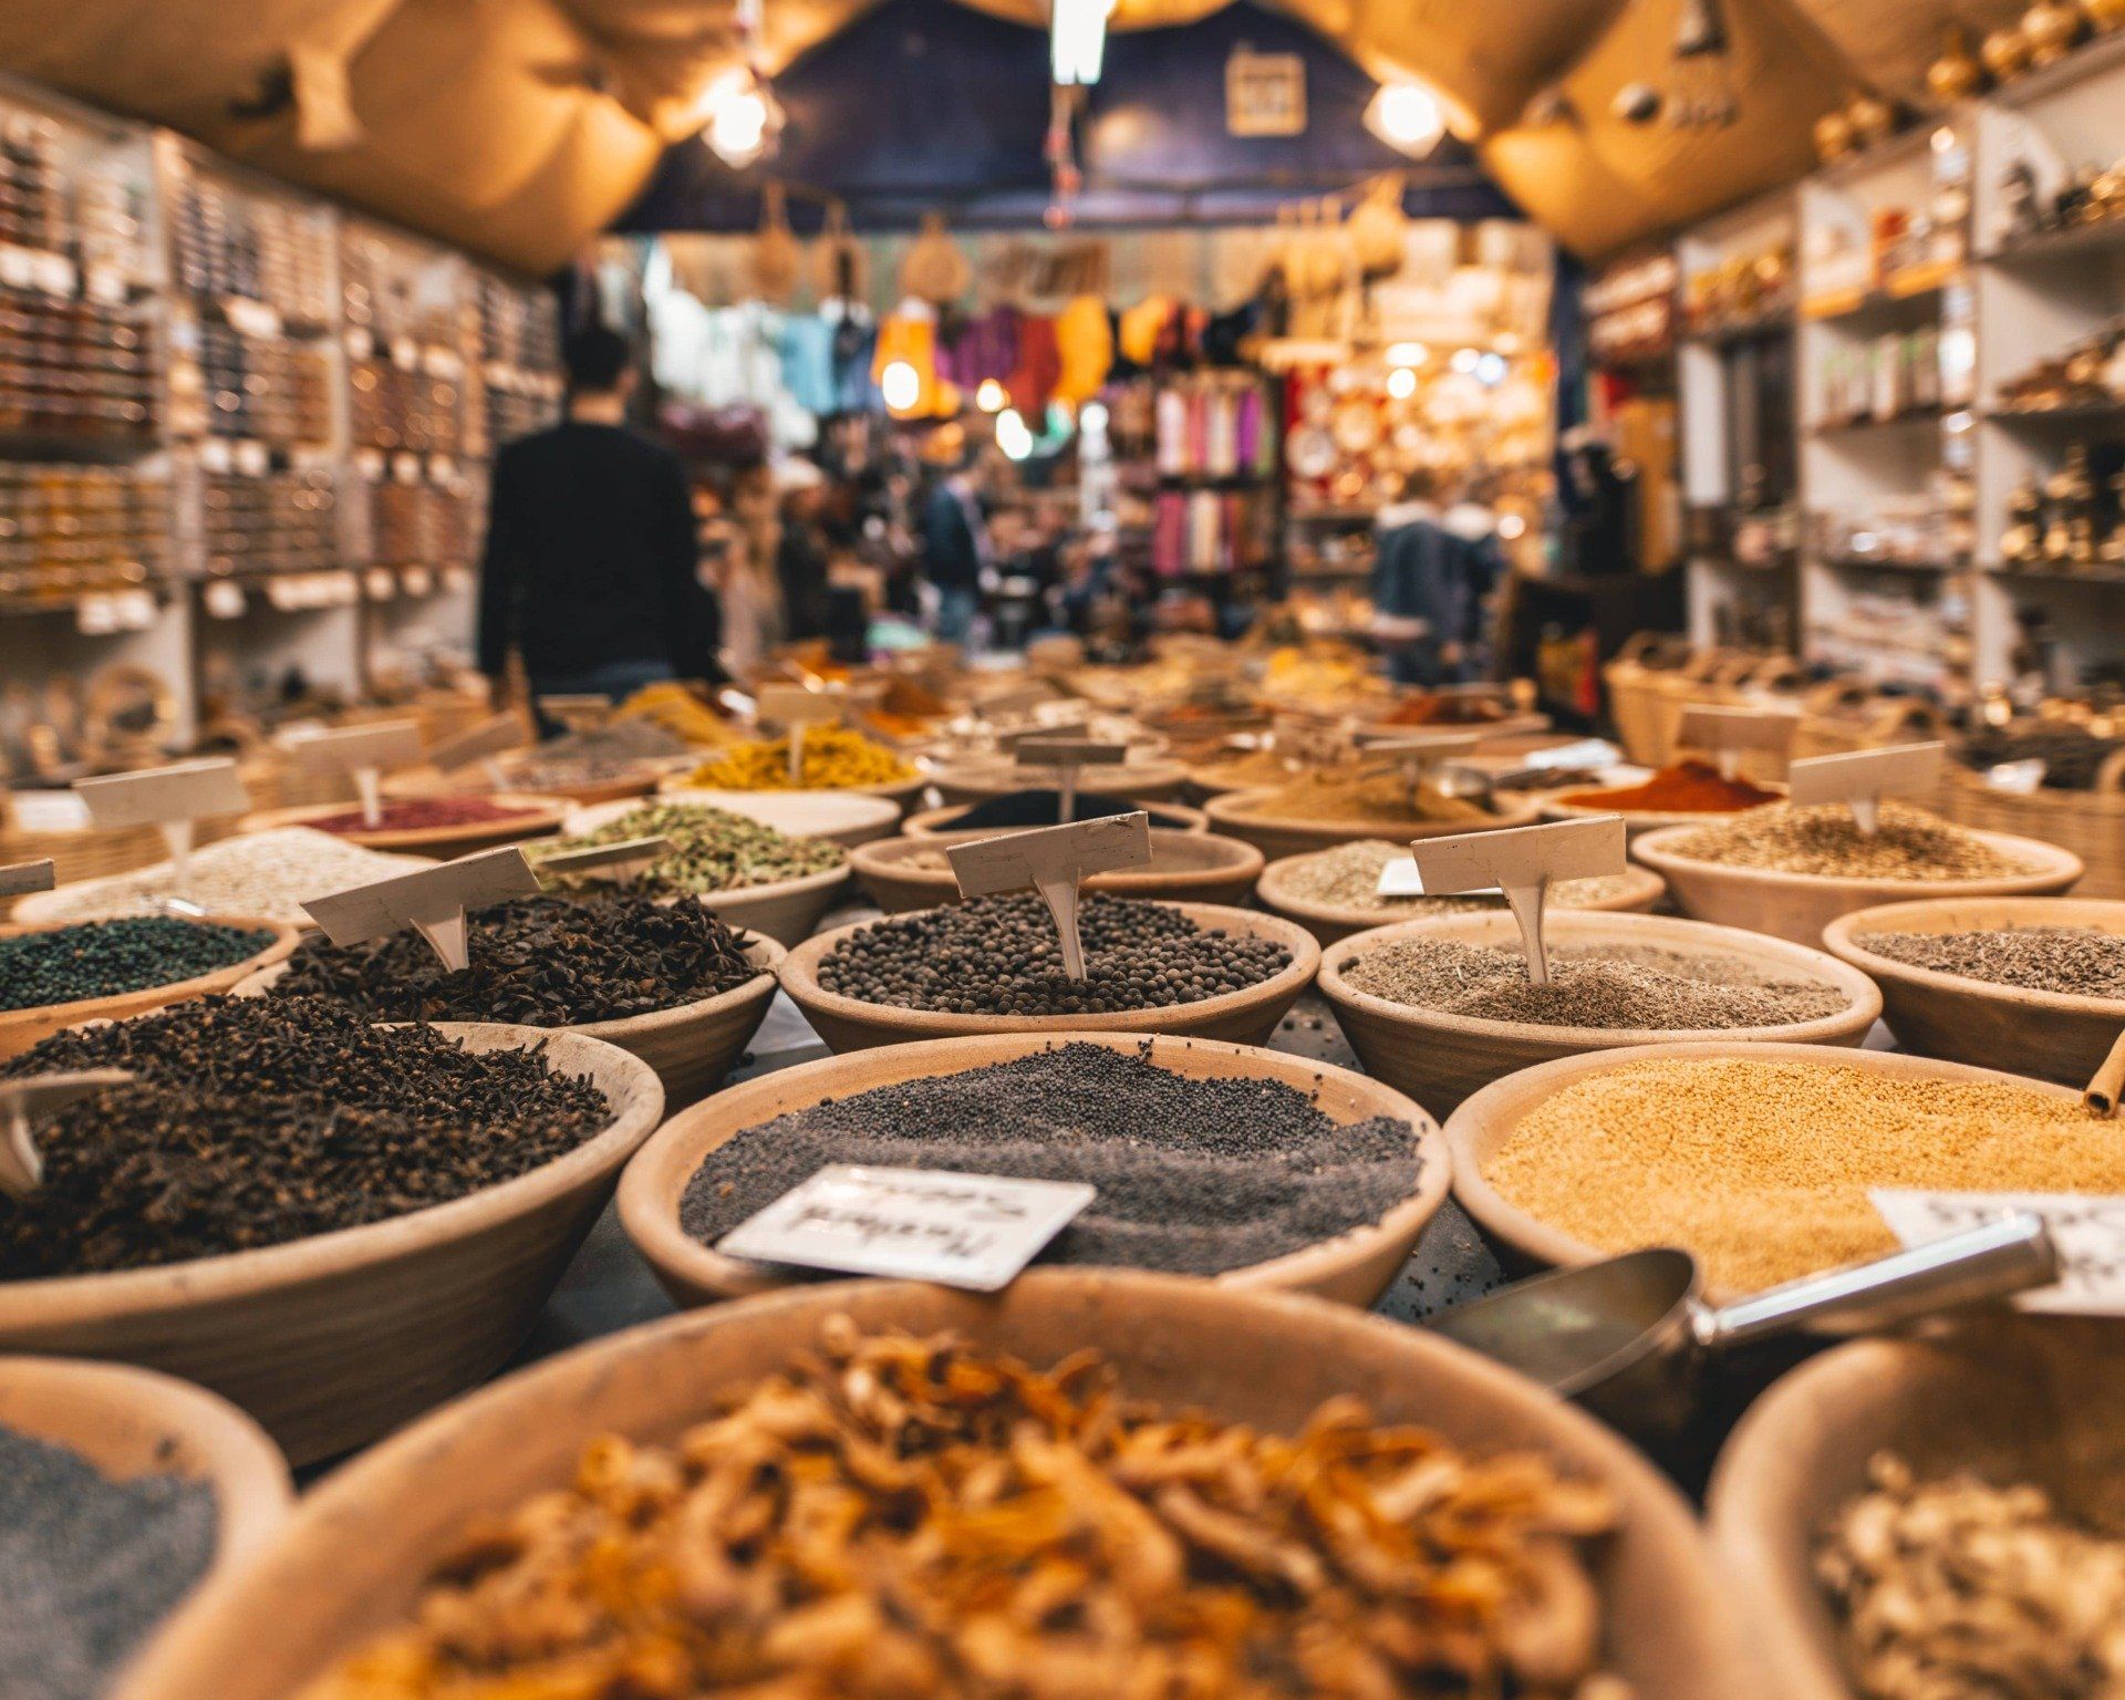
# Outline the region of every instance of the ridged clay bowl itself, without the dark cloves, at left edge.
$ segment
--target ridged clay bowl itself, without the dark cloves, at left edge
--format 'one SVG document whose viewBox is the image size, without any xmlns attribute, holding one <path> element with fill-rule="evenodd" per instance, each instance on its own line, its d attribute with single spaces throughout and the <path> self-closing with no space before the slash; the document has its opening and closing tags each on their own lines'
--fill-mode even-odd
<svg viewBox="0 0 2125 1700">
<path fill-rule="evenodd" d="M 493 1375 L 663 1120 L 648 1062 L 580 1033 L 438 1022 L 470 1050 L 544 1046 L 612 1124 L 567 1156 L 431 1209 L 217 1258 L 0 1281 L 0 1352 L 115 1358 L 212 1388 L 308 1464 Z"/>
</svg>

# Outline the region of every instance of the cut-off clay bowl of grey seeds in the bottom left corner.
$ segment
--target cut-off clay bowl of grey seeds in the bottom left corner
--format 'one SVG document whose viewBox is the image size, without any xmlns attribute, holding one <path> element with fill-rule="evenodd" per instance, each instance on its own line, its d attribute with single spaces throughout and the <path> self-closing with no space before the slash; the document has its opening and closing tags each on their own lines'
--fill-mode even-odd
<svg viewBox="0 0 2125 1700">
<path fill-rule="evenodd" d="M 295 1500 L 251 1417 L 125 1364 L 0 1358 L 0 1647 L 8 1694 L 102 1694 Z"/>
</svg>

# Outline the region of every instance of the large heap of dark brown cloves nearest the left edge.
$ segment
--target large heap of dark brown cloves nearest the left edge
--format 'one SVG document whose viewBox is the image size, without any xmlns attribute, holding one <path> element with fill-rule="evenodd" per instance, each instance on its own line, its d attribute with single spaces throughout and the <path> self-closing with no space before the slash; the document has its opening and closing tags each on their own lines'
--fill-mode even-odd
<svg viewBox="0 0 2125 1700">
<path fill-rule="evenodd" d="M 327 999 L 202 999 L 68 1028 L 0 1073 L 128 1069 L 36 1124 L 0 1279 L 153 1269 L 385 1222 L 527 1175 L 612 1122 L 540 1050 L 468 1052 Z"/>
</svg>

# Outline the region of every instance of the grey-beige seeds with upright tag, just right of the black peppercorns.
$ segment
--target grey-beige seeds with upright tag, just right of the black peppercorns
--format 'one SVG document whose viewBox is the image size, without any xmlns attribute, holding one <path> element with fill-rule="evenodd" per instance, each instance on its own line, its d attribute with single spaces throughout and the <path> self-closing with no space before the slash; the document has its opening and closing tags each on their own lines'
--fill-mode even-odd
<svg viewBox="0 0 2125 1700">
<path fill-rule="evenodd" d="M 1517 948 L 1458 939 L 1390 939 L 1343 967 L 1388 1003 L 1534 1026 L 1715 1031 L 1836 1016 L 1851 999 L 1828 980 L 1770 973 L 1742 956 L 1666 946 L 1551 946 L 1549 984 Z"/>
</svg>

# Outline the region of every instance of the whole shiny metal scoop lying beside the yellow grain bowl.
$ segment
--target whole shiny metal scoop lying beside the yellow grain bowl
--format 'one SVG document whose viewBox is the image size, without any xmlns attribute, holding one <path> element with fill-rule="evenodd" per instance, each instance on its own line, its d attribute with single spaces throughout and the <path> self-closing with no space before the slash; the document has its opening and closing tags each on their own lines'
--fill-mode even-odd
<svg viewBox="0 0 2125 1700">
<path fill-rule="evenodd" d="M 1887 1328 L 2057 1277 L 2059 1252 L 2042 1218 L 2006 1211 L 1978 1228 L 1734 1305 L 1706 1305 L 1698 1296 L 1698 1260 L 1664 1247 L 1517 1281 L 1456 1305 L 1430 1326 L 1579 1400 L 1626 1434 L 1666 1436 L 1689 1422 L 1704 1360 L 1730 1345 L 1813 1326 Z"/>
</svg>

